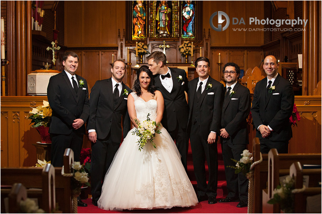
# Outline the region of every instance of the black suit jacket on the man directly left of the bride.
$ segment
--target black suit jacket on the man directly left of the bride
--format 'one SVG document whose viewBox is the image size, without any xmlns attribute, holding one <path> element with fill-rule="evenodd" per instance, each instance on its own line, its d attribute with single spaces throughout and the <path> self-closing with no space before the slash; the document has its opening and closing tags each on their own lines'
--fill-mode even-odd
<svg viewBox="0 0 322 214">
<path fill-rule="evenodd" d="M 105 139 L 111 133 L 113 142 L 121 142 L 121 118 L 123 118 L 124 138 L 130 130 L 130 118 L 127 111 L 128 96 L 122 95 L 124 89 L 128 91 L 128 94 L 132 92 L 128 86 L 122 83 L 121 96 L 114 105 L 111 78 L 98 80 L 92 87 L 90 92 L 90 118 L 87 130 L 95 129 L 97 138 Z"/>
</svg>

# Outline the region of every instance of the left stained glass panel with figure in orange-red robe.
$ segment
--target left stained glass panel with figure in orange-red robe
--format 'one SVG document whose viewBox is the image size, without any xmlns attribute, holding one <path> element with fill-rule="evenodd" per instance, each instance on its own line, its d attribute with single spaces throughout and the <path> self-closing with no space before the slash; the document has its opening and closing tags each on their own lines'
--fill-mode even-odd
<svg viewBox="0 0 322 214">
<path fill-rule="evenodd" d="M 146 1 L 132 2 L 132 40 L 147 38 L 147 3 Z"/>
</svg>

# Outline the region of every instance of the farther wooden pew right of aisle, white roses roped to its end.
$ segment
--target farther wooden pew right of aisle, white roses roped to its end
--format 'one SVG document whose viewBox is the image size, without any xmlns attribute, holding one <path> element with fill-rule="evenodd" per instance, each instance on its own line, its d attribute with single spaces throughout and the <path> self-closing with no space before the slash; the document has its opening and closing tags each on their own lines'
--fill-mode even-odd
<svg viewBox="0 0 322 214">
<path fill-rule="evenodd" d="M 254 162 L 260 160 L 259 138 L 253 140 L 253 156 Z M 279 154 L 278 156 L 281 175 L 289 174 L 289 166 L 295 161 L 321 165 L 321 153 Z M 263 161 L 254 167 L 253 213 L 262 213 L 262 191 L 267 188 L 268 154 L 262 154 L 262 158 Z"/>
</svg>

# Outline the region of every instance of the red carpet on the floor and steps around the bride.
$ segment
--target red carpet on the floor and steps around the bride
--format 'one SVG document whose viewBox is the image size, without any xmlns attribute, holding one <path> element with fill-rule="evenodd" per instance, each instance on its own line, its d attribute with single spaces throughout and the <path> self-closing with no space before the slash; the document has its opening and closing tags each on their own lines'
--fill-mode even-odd
<svg viewBox="0 0 322 214">
<path fill-rule="evenodd" d="M 206 172 L 208 173 L 208 166 L 206 166 Z M 194 171 L 192 163 L 191 148 L 189 145 L 188 151 L 188 176 L 196 189 L 197 183 L 195 181 Z M 217 189 L 217 201 L 227 196 L 227 188 L 225 181 L 225 171 L 223 165 L 223 156 L 221 151 L 221 145 L 218 144 L 218 189 Z M 123 211 L 109 211 L 101 210 L 92 204 L 92 200 L 86 199 L 83 202 L 87 203 L 87 207 L 78 207 L 78 213 L 247 213 L 247 207 L 237 208 L 238 202 L 230 203 L 216 203 L 208 204 L 208 201 L 202 201 L 194 207 L 182 208 L 174 207 L 171 209 L 156 209 L 156 210 L 123 210 Z"/>
</svg>

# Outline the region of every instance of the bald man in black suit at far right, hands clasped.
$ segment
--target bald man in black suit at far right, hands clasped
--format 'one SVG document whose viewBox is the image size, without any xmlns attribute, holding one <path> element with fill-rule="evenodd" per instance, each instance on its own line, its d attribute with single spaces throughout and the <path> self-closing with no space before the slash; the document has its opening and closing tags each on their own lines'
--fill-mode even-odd
<svg viewBox="0 0 322 214">
<path fill-rule="evenodd" d="M 293 111 L 294 92 L 291 83 L 277 72 L 275 56 L 264 59 L 267 78 L 255 86 L 251 115 L 260 138 L 260 152 L 268 153 L 276 148 L 279 153 L 288 153 L 292 129 L 289 117 Z"/>
</svg>

